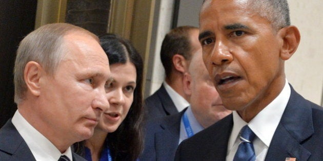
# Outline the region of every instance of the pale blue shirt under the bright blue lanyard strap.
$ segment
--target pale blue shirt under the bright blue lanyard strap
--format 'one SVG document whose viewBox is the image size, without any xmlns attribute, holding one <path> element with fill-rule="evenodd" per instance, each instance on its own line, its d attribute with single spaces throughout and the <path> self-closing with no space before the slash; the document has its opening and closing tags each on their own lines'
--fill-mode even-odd
<svg viewBox="0 0 323 161">
<path fill-rule="evenodd" d="M 190 123 L 190 126 L 193 130 L 193 134 L 201 131 L 201 130 L 204 130 L 204 127 L 199 124 L 196 120 L 196 118 L 194 117 L 194 114 L 192 112 L 192 109 L 191 109 L 191 106 L 189 106 L 187 108 L 187 110 L 185 111 L 185 113 L 187 114 L 187 118 L 188 118 L 188 121 Z M 187 139 L 188 136 L 187 136 L 187 132 L 185 130 L 185 125 L 184 125 L 184 122 L 183 122 L 183 116 L 181 117 L 180 119 L 180 130 L 179 130 L 179 141 L 178 141 L 178 144 L 182 141 L 184 141 L 185 139 Z"/>
</svg>

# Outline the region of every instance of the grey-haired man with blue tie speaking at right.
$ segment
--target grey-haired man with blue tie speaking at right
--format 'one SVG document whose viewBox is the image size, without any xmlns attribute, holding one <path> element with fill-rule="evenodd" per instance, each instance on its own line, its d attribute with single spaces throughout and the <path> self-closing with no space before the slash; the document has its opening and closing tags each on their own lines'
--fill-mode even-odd
<svg viewBox="0 0 323 161">
<path fill-rule="evenodd" d="M 175 159 L 323 160 L 322 108 L 298 95 L 284 72 L 300 41 L 287 1 L 208 0 L 199 24 L 204 63 L 234 111 L 182 142 Z"/>
</svg>

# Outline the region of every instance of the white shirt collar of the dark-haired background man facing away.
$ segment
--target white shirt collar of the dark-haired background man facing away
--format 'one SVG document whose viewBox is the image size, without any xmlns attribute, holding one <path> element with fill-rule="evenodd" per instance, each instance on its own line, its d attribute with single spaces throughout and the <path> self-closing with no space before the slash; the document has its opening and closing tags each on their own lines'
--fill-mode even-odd
<svg viewBox="0 0 323 161">
<path fill-rule="evenodd" d="M 185 98 L 181 97 L 171 86 L 169 86 L 165 81 L 163 83 L 168 95 L 174 102 L 176 109 L 178 112 L 186 108 L 187 106 L 190 105 L 189 102 L 185 100 Z"/>
</svg>

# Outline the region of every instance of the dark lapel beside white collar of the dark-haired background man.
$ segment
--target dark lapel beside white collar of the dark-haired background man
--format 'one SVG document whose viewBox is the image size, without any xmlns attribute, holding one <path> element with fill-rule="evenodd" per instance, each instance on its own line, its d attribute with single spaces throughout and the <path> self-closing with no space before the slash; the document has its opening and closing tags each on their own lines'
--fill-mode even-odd
<svg viewBox="0 0 323 161">
<path fill-rule="evenodd" d="M 160 99 L 160 102 L 168 115 L 178 113 L 177 108 L 170 96 L 168 95 L 164 85 L 161 85 L 161 87 L 158 89 L 157 96 Z"/>
</svg>

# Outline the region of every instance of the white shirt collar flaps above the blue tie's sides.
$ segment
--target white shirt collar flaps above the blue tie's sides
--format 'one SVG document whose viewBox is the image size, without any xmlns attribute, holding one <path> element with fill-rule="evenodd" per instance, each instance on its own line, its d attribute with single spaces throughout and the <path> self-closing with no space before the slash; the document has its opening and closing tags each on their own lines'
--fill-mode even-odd
<svg viewBox="0 0 323 161">
<path fill-rule="evenodd" d="M 280 94 L 248 123 L 250 129 L 268 147 L 287 106 L 290 95 L 291 88 L 286 80 Z M 229 139 L 229 149 L 233 147 L 241 128 L 245 125 L 247 125 L 247 122 L 241 119 L 236 111 L 233 111 L 233 129 Z"/>
</svg>

